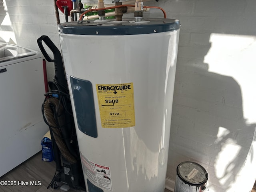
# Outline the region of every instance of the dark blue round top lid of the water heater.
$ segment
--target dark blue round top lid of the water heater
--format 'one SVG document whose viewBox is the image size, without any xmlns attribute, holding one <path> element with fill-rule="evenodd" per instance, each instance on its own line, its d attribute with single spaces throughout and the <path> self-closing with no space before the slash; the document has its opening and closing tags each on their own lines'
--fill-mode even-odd
<svg viewBox="0 0 256 192">
<path fill-rule="evenodd" d="M 132 19 L 122 22 L 114 20 L 90 22 L 66 22 L 58 25 L 60 34 L 75 35 L 135 35 L 174 31 L 180 28 L 176 19 L 144 19 L 134 22 Z"/>
</svg>

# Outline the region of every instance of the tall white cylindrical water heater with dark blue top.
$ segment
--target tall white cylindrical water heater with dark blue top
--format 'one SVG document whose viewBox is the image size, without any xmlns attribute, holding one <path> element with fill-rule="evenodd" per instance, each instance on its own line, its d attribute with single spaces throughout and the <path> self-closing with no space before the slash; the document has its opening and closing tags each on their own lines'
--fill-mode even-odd
<svg viewBox="0 0 256 192">
<path fill-rule="evenodd" d="M 180 23 L 58 26 L 88 192 L 164 192 Z"/>
</svg>

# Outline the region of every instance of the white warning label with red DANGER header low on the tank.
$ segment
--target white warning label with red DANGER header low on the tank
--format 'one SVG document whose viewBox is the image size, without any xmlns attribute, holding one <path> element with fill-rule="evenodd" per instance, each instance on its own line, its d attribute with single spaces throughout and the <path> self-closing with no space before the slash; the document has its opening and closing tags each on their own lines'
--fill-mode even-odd
<svg viewBox="0 0 256 192">
<path fill-rule="evenodd" d="M 110 167 L 102 166 L 88 160 L 81 152 L 80 155 L 83 172 L 86 174 L 88 180 L 102 189 L 112 191 Z"/>
</svg>

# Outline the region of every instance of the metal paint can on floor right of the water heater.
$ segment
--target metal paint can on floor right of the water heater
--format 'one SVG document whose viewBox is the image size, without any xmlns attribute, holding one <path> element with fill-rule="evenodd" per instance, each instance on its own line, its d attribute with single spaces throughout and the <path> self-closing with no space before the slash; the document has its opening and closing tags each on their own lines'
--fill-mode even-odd
<svg viewBox="0 0 256 192">
<path fill-rule="evenodd" d="M 174 192 L 202 192 L 207 180 L 208 173 L 200 164 L 182 162 L 177 167 Z"/>
</svg>

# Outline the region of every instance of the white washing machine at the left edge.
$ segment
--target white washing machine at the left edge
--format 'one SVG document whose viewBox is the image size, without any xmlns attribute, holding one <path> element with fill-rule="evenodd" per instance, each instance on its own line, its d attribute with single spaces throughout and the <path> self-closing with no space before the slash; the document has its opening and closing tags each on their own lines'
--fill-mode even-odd
<svg viewBox="0 0 256 192">
<path fill-rule="evenodd" d="M 0 176 L 41 150 L 40 141 L 48 131 L 41 113 L 43 101 L 40 54 L 0 46 Z"/>
</svg>

